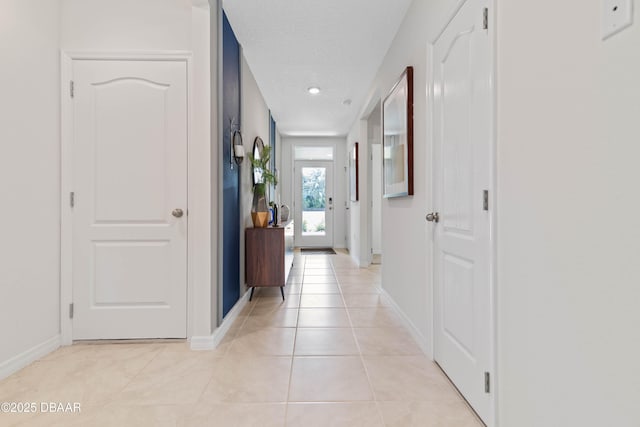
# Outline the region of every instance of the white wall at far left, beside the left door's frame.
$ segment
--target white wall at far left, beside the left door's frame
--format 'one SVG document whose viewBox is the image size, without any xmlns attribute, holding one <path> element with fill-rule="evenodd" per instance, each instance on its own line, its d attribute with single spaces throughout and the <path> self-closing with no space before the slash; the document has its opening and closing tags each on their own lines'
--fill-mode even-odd
<svg viewBox="0 0 640 427">
<path fill-rule="evenodd" d="M 58 34 L 58 1 L 0 3 L 0 378 L 60 332 Z"/>
</svg>

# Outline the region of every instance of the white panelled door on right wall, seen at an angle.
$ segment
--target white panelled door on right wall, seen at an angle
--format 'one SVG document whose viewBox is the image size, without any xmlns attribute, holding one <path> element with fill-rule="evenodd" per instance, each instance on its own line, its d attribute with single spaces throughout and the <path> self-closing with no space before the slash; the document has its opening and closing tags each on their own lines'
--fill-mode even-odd
<svg viewBox="0 0 640 427">
<path fill-rule="evenodd" d="M 491 288 L 491 50 L 487 0 L 467 0 L 434 44 L 435 359 L 487 423 Z M 488 208 L 488 206 L 487 206 Z M 490 377 L 489 377 L 490 378 Z M 490 388 L 489 388 L 490 389 Z"/>
</svg>

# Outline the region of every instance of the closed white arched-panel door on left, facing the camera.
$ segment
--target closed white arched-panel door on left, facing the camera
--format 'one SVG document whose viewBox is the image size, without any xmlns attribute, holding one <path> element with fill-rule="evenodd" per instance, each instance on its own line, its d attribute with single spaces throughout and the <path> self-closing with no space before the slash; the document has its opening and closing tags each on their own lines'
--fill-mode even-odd
<svg viewBox="0 0 640 427">
<path fill-rule="evenodd" d="M 73 62 L 73 339 L 185 338 L 187 67 Z"/>
</svg>

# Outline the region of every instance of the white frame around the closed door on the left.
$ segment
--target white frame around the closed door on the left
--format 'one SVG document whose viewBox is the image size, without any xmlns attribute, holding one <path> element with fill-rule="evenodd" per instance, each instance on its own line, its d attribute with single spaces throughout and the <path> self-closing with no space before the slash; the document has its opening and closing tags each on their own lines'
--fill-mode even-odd
<svg viewBox="0 0 640 427">
<path fill-rule="evenodd" d="M 73 321 L 69 307 L 73 302 L 73 215 L 69 203 L 73 191 L 73 102 L 70 96 L 70 82 L 73 77 L 73 61 L 77 60 L 123 60 L 123 61 L 177 61 L 187 64 L 187 337 L 193 335 L 193 262 L 190 256 L 199 230 L 189 221 L 189 212 L 195 202 L 196 177 L 191 165 L 198 158 L 191 143 L 192 106 L 193 106 L 193 68 L 191 52 L 94 52 L 94 51 L 61 51 L 61 84 L 60 84 L 60 335 L 62 345 L 73 343 Z"/>
</svg>

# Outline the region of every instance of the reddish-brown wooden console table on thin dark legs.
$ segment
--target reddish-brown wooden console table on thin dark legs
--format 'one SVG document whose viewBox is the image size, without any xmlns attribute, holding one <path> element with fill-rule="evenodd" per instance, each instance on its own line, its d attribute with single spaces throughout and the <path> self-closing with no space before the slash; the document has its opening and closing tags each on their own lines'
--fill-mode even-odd
<svg viewBox="0 0 640 427">
<path fill-rule="evenodd" d="M 293 221 L 284 226 L 245 230 L 245 275 L 253 291 L 259 286 L 278 286 L 284 300 L 284 286 L 293 264 Z"/>
</svg>

